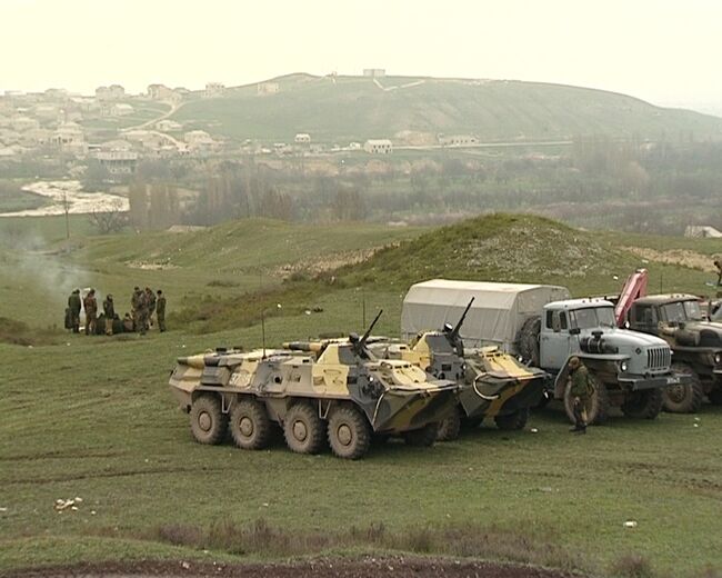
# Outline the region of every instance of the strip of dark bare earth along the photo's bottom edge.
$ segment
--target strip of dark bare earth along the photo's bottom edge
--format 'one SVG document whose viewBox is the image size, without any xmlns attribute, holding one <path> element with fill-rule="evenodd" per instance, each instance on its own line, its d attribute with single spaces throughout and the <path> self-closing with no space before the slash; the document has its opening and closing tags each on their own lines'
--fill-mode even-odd
<svg viewBox="0 0 722 578">
<path fill-rule="evenodd" d="M 8 578 L 572 578 L 569 572 L 432 558 L 320 559 L 297 565 L 221 565 L 195 562 L 99 564 L 16 571 Z M 580 575 L 573 575 L 580 578 Z"/>
</svg>

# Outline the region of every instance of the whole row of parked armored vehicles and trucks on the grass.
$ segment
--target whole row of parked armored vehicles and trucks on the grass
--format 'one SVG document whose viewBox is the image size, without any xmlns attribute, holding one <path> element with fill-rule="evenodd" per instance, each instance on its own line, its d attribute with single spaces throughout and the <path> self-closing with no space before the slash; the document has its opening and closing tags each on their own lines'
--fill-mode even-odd
<svg viewBox="0 0 722 578">
<path fill-rule="evenodd" d="M 328 444 L 347 459 L 363 457 L 372 439 L 453 439 L 464 421 L 523 429 L 544 399 L 563 400 L 573 421 L 571 357 L 593 385 L 589 422 L 612 406 L 654 419 L 664 391 L 676 410 L 696 409 L 703 395 L 722 402 L 722 323 L 702 321 L 694 296 L 625 302 L 633 330 L 618 327 L 611 301 L 571 299 L 563 287 L 435 279 L 404 298 L 405 340 L 371 336 L 379 312 L 362 337 L 180 357 L 169 383 L 200 444 L 230 432 L 238 447 L 261 449 L 281 428 L 292 451 Z"/>
</svg>

